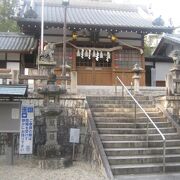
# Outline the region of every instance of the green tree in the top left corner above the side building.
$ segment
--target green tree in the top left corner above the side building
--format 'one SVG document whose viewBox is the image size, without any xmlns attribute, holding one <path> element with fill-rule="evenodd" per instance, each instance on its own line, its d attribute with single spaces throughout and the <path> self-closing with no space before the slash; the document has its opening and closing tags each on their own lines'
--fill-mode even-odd
<svg viewBox="0 0 180 180">
<path fill-rule="evenodd" d="M 17 32 L 19 27 L 13 20 L 14 7 L 16 0 L 1 0 L 0 1 L 0 31 L 1 32 Z"/>
</svg>

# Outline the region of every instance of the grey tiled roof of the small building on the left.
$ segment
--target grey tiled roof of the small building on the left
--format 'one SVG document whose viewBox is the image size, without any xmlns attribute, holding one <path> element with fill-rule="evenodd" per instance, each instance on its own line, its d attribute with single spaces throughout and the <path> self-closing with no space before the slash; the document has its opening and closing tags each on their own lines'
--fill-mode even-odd
<svg viewBox="0 0 180 180">
<path fill-rule="evenodd" d="M 37 46 L 37 40 L 33 36 L 22 33 L 0 32 L 0 51 L 30 52 Z"/>
</svg>

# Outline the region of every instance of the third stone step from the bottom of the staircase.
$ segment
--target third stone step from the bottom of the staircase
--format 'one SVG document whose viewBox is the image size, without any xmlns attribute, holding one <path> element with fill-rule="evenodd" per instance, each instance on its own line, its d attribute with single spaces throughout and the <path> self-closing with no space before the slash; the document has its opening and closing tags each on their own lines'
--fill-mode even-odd
<svg viewBox="0 0 180 180">
<path fill-rule="evenodd" d="M 143 147 L 143 148 L 105 148 L 107 156 L 138 156 L 138 155 L 162 155 L 162 147 Z M 166 154 L 180 154 L 179 146 L 166 147 Z"/>
</svg>

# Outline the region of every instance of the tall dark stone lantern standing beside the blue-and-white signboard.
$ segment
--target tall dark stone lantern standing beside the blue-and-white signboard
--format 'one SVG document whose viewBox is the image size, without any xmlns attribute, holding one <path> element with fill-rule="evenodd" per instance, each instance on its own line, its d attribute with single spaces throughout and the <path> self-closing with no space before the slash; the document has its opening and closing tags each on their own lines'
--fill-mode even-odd
<svg viewBox="0 0 180 180">
<path fill-rule="evenodd" d="M 46 143 L 38 149 L 38 156 L 41 158 L 39 164 L 44 169 L 58 169 L 63 167 L 64 163 L 61 158 L 61 145 L 58 143 L 58 122 L 63 111 L 59 105 L 59 99 L 66 91 L 56 85 L 56 75 L 52 73 L 49 75 L 47 85 L 38 92 L 44 96 L 41 114 L 46 124 Z"/>
</svg>

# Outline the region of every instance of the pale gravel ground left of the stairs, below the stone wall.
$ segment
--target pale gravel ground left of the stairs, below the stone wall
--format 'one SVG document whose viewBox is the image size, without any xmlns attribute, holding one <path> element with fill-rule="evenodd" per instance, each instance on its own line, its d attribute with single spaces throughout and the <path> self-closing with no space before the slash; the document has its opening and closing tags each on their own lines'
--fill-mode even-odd
<svg viewBox="0 0 180 180">
<path fill-rule="evenodd" d="M 30 159 L 16 159 L 14 166 L 7 166 L 0 156 L 0 180 L 105 180 L 86 162 L 73 162 L 73 166 L 58 170 L 40 169 Z"/>
</svg>

